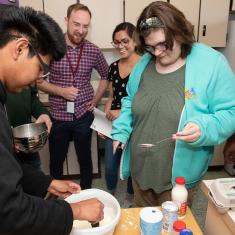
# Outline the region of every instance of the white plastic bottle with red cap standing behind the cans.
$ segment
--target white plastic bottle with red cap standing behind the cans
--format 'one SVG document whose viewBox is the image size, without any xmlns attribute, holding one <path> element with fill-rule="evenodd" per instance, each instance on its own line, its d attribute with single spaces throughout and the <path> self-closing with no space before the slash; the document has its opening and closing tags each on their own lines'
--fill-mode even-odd
<svg viewBox="0 0 235 235">
<path fill-rule="evenodd" d="M 188 191 L 185 187 L 185 178 L 179 176 L 175 179 L 175 186 L 171 191 L 172 201 L 178 205 L 178 218 L 183 219 L 187 210 Z"/>
</svg>

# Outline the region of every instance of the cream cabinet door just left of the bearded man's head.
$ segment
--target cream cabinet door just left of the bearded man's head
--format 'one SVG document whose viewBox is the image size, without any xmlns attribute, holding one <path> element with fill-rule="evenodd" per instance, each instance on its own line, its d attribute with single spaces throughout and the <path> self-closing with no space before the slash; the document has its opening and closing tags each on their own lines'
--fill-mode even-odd
<svg viewBox="0 0 235 235">
<path fill-rule="evenodd" d="M 60 25 L 63 32 L 66 32 L 65 17 L 67 16 L 67 8 L 76 2 L 76 0 L 44 0 L 45 13 Z"/>
</svg>

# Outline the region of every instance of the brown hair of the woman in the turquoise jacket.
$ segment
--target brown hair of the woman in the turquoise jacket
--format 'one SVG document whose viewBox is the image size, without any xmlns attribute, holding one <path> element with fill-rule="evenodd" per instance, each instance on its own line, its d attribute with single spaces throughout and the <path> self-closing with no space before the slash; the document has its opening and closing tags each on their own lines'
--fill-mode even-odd
<svg viewBox="0 0 235 235">
<path fill-rule="evenodd" d="M 157 17 L 159 22 L 163 24 L 162 28 L 165 32 L 166 43 L 169 49 L 172 49 L 174 40 L 181 45 L 181 57 L 185 58 L 191 51 L 192 44 L 195 42 L 192 24 L 185 18 L 184 14 L 170 3 L 156 1 L 149 4 L 141 13 L 137 21 L 137 32 L 140 42 L 144 45 L 146 38 L 152 31 L 159 29 L 157 27 L 148 27 L 142 29 L 147 19 Z"/>
</svg>

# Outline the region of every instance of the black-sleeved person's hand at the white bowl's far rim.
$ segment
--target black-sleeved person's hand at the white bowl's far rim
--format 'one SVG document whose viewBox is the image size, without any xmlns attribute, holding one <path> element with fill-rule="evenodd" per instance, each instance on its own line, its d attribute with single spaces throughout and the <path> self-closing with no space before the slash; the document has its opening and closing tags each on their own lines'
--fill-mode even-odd
<svg viewBox="0 0 235 235">
<path fill-rule="evenodd" d="M 69 180 L 52 180 L 47 191 L 56 196 L 66 198 L 73 193 L 79 193 L 81 187 L 79 184 Z"/>
</svg>

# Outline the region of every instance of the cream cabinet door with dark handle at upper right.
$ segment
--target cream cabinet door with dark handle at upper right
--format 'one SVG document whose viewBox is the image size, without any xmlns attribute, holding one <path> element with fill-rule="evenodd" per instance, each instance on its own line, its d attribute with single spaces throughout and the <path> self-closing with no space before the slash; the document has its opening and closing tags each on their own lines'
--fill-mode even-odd
<svg viewBox="0 0 235 235">
<path fill-rule="evenodd" d="M 230 0 L 201 0 L 198 41 L 225 47 Z"/>
</svg>

